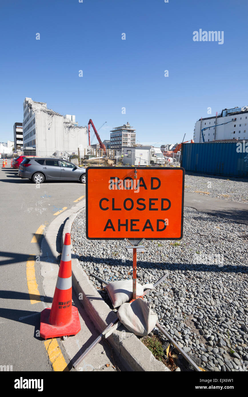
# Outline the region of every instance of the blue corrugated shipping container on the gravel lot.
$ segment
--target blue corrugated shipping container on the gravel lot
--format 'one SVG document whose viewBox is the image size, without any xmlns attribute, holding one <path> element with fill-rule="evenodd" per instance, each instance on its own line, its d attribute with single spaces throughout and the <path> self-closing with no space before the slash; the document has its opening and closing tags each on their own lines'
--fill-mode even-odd
<svg viewBox="0 0 248 397">
<path fill-rule="evenodd" d="M 184 143 L 181 167 L 190 172 L 248 177 L 248 142 Z"/>
</svg>

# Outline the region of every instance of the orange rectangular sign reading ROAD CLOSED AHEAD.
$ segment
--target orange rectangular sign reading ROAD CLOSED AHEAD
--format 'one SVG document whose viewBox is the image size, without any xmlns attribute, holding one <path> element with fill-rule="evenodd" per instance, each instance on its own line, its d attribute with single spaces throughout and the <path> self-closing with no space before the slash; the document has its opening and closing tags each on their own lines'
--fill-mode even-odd
<svg viewBox="0 0 248 397">
<path fill-rule="evenodd" d="M 184 168 L 86 169 L 87 239 L 181 239 L 183 206 Z"/>
</svg>

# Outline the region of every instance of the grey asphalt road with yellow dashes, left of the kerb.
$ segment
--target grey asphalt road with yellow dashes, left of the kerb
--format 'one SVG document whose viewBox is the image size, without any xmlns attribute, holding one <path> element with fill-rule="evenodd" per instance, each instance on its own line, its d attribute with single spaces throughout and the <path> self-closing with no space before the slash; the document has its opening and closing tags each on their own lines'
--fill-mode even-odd
<svg viewBox="0 0 248 397">
<path fill-rule="evenodd" d="M 74 206 L 74 200 L 85 195 L 85 185 L 48 182 L 37 189 L 9 166 L 0 172 L 0 365 L 12 365 L 13 371 L 51 371 L 44 340 L 36 336 L 44 303 L 31 303 L 37 297 L 29 295 L 33 284 L 30 275 L 27 283 L 27 261 L 34 259 L 36 267 L 41 238 L 33 237 L 39 227 Z M 38 266 L 35 278 L 41 299 L 47 301 Z M 59 345 L 66 360 L 60 341 Z"/>
</svg>

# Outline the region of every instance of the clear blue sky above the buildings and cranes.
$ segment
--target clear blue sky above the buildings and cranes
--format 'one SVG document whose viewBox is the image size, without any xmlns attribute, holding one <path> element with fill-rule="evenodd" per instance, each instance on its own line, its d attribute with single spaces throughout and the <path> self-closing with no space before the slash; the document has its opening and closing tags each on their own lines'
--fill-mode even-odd
<svg viewBox="0 0 248 397">
<path fill-rule="evenodd" d="M 26 96 L 60 114 L 75 114 L 79 125 L 91 118 L 99 128 L 107 121 L 99 131 L 102 140 L 128 121 L 138 141 L 157 146 L 180 142 L 184 133 L 191 139 L 208 107 L 214 116 L 248 105 L 246 0 L 0 5 L 2 142 L 13 140 Z M 199 29 L 224 31 L 224 43 L 194 42 Z"/>
</svg>

